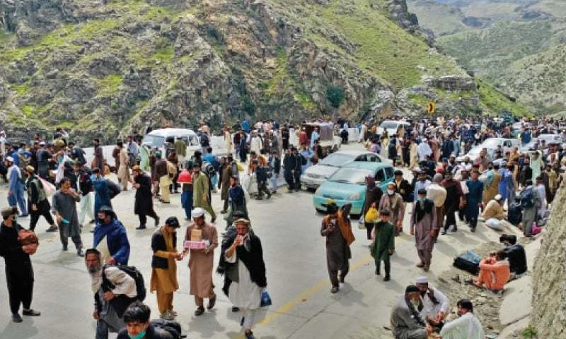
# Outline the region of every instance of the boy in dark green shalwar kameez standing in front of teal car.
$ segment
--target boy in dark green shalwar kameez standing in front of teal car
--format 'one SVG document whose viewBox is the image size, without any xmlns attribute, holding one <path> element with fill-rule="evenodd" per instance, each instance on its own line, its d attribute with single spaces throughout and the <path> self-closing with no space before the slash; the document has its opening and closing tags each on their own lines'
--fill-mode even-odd
<svg viewBox="0 0 566 339">
<path fill-rule="evenodd" d="M 379 221 L 374 226 L 374 243 L 371 244 L 371 256 L 376 263 L 376 275 L 381 274 L 381 261 L 385 266 L 383 281 L 391 280 L 391 261 L 395 251 L 395 227 L 389 222 L 389 210 L 381 210 Z"/>
</svg>

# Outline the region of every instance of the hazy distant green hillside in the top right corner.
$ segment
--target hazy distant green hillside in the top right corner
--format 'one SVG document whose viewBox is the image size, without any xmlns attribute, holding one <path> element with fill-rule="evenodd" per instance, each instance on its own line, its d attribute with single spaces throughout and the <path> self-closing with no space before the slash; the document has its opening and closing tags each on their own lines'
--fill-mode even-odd
<svg viewBox="0 0 566 339">
<path fill-rule="evenodd" d="M 560 86 L 566 71 L 560 59 L 566 1 L 410 0 L 409 5 L 439 47 L 476 76 L 539 114 L 566 109 Z"/>
</svg>

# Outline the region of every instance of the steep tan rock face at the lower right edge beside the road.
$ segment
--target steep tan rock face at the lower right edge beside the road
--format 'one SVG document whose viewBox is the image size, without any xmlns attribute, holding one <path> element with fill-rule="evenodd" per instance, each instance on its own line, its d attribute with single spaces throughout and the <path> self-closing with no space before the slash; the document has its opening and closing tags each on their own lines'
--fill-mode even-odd
<svg viewBox="0 0 566 339">
<path fill-rule="evenodd" d="M 558 191 L 553 206 L 564 206 L 566 190 Z M 533 314 L 536 338 L 566 338 L 566 228 L 564 210 L 550 217 L 533 270 Z"/>
</svg>

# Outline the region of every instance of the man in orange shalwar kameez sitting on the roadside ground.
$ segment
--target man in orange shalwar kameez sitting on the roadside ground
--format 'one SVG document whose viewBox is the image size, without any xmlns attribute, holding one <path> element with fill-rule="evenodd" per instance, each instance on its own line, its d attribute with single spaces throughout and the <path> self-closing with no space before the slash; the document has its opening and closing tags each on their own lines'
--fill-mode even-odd
<svg viewBox="0 0 566 339">
<path fill-rule="evenodd" d="M 503 290 L 503 286 L 509 281 L 511 271 L 509 270 L 509 261 L 505 260 L 505 252 L 497 251 L 497 254 L 490 254 L 480 262 L 480 274 L 478 279 L 468 280 L 476 287 L 482 288 L 485 285 L 487 290 L 499 292 Z"/>
</svg>

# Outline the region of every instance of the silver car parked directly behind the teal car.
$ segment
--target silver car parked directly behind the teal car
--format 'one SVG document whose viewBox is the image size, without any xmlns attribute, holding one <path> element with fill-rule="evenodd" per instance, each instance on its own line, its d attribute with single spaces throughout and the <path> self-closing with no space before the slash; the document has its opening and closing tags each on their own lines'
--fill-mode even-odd
<svg viewBox="0 0 566 339">
<path fill-rule="evenodd" d="M 340 150 L 330 153 L 317 165 L 308 167 L 301 174 L 301 188 L 317 189 L 340 167 L 352 161 L 383 162 L 383 159 L 376 153 L 357 150 Z"/>
</svg>

